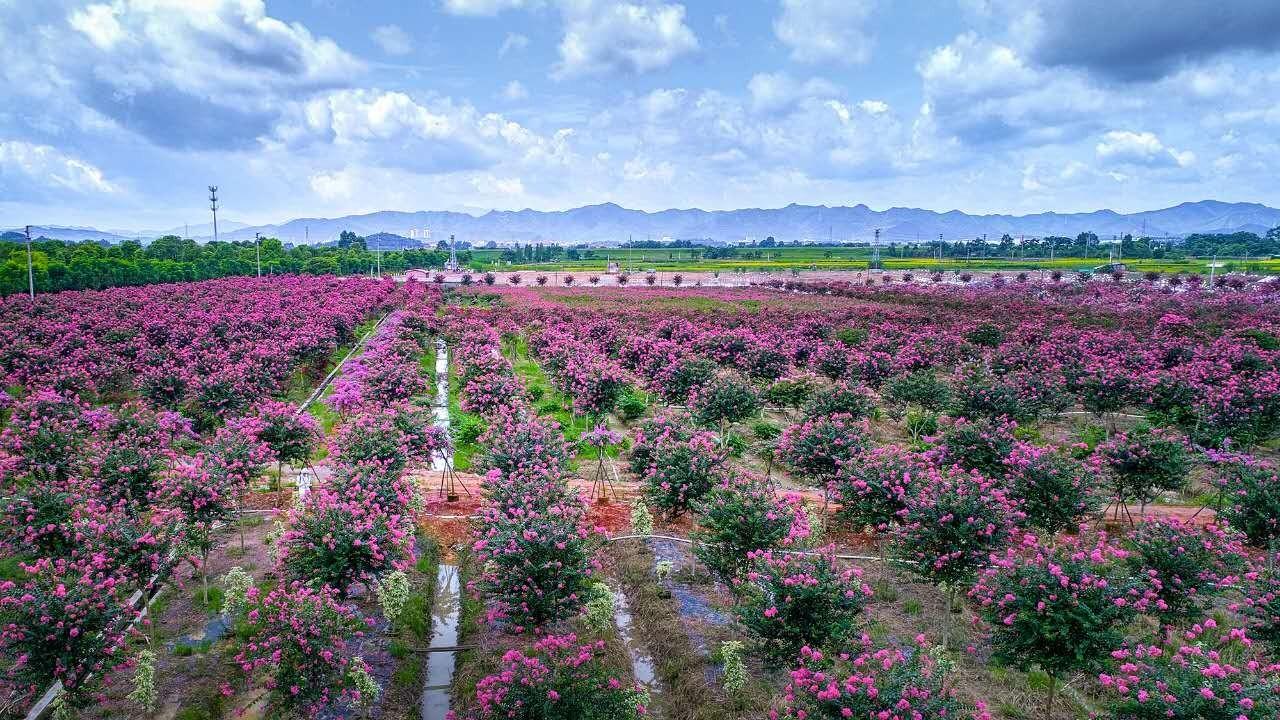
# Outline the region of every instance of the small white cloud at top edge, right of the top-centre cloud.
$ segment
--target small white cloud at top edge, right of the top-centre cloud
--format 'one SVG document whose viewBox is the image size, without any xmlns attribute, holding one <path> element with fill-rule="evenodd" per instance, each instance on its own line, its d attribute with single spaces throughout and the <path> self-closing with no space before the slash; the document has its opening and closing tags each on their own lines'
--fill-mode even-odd
<svg viewBox="0 0 1280 720">
<path fill-rule="evenodd" d="M 874 0 L 782 0 L 773 33 L 801 63 L 865 63 L 876 44 L 865 27 L 874 9 Z"/>
</svg>

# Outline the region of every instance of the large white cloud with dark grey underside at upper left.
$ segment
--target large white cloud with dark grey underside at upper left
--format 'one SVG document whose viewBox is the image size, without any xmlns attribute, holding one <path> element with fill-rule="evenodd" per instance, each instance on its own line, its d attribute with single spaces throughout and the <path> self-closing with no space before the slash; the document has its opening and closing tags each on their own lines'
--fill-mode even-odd
<svg viewBox="0 0 1280 720">
<path fill-rule="evenodd" d="M 364 64 L 262 0 L 114 0 L 33 33 L 52 87 L 116 126 L 178 149 L 244 149 L 282 105 L 351 83 Z M 178 110 L 180 109 L 180 110 Z"/>
</svg>

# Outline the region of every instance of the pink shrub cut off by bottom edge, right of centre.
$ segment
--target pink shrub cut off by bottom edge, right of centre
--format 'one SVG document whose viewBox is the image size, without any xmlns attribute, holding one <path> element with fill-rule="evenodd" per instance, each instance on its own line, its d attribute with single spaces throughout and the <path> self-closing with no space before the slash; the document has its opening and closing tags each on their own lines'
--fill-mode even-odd
<svg viewBox="0 0 1280 720">
<path fill-rule="evenodd" d="M 863 635 L 838 655 L 800 648 L 782 701 L 786 717 L 810 720 L 950 720 L 961 706 L 945 670 L 922 647 L 876 647 Z M 771 720 L 778 720 L 773 711 Z"/>
</svg>

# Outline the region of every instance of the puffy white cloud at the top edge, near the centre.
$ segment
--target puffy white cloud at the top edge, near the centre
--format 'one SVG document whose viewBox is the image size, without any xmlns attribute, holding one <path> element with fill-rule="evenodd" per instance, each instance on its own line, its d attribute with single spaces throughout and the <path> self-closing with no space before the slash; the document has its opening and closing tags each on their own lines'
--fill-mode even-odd
<svg viewBox="0 0 1280 720">
<path fill-rule="evenodd" d="M 698 50 L 685 6 L 666 3 L 562 0 L 564 36 L 554 77 L 645 73 Z"/>
</svg>

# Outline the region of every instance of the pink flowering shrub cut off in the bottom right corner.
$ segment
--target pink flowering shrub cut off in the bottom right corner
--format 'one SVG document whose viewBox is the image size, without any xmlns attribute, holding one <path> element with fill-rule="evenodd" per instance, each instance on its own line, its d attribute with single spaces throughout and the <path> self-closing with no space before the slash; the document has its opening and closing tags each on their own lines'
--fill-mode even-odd
<svg viewBox="0 0 1280 720">
<path fill-rule="evenodd" d="M 1098 675 L 1114 720 L 1263 720 L 1280 716 L 1280 666 L 1249 635 L 1207 619 L 1164 646 L 1125 644 Z"/>
</svg>

